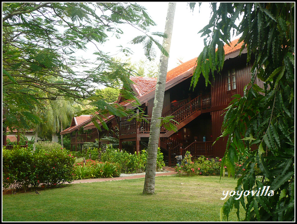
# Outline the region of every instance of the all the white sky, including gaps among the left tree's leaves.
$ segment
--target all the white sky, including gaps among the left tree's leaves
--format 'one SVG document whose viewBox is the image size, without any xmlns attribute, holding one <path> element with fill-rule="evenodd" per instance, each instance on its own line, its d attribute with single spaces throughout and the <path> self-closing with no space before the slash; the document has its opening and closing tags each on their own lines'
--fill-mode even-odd
<svg viewBox="0 0 297 224">
<path fill-rule="evenodd" d="M 157 26 L 151 27 L 151 32 L 164 32 L 165 30 L 165 20 L 167 15 L 168 2 L 166 1 L 141 1 L 137 2 L 140 5 L 143 5 L 147 8 L 147 12 L 152 20 L 157 24 Z M 203 38 L 201 38 L 201 34 L 198 32 L 208 24 L 210 19 L 210 6 L 209 2 L 203 2 L 200 7 L 198 3 L 194 9 L 194 12 L 190 10 L 190 6 L 187 5 L 187 2 L 177 2 L 175 17 L 174 17 L 174 25 L 173 25 L 173 33 L 171 39 L 171 47 L 169 53 L 169 62 L 168 62 L 168 71 L 177 67 L 180 63 L 189 61 L 195 57 L 198 57 L 199 53 L 203 49 Z M 124 28 L 124 35 L 122 35 L 121 39 L 110 39 L 110 41 L 106 42 L 104 46 L 100 46 L 101 49 L 105 52 L 110 52 L 111 55 L 115 57 L 123 57 L 120 54 L 114 54 L 118 51 L 115 46 L 122 45 L 129 47 L 134 54 L 130 55 L 132 62 L 137 62 L 140 59 L 145 59 L 144 49 L 141 44 L 139 45 L 129 45 L 127 44 L 134 37 L 142 35 L 141 33 L 137 33 L 137 30 L 132 27 Z M 162 39 L 157 39 L 160 44 L 162 44 Z M 84 57 L 93 57 L 93 50 L 95 50 L 94 46 L 90 47 L 85 53 Z M 160 52 L 156 48 L 157 56 L 156 63 L 159 61 Z M 95 56 L 94 56 L 95 57 Z"/>
</svg>

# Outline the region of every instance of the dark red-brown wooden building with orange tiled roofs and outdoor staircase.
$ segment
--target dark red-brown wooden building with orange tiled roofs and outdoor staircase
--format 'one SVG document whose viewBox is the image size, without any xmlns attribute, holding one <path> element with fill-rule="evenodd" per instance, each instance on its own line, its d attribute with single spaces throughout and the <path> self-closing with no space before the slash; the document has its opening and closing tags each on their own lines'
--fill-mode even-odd
<svg viewBox="0 0 297 224">
<path fill-rule="evenodd" d="M 231 42 L 231 46 L 225 45 L 225 63 L 220 74 L 211 78 L 211 85 L 205 86 L 205 79 L 201 75 L 195 90 L 190 90 L 193 71 L 197 58 L 187 61 L 167 73 L 162 117 L 174 116 L 178 132 L 160 128 L 159 147 L 164 154 L 164 159 L 171 166 L 175 156 L 188 150 L 194 157 L 204 155 L 207 157 L 222 158 L 226 149 L 226 140 L 219 139 L 214 145 L 215 139 L 221 135 L 221 126 L 225 112 L 232 95 L 243 95 L 244 87 L 250 82 L 251 65 L 247 65 L 247 51 L 240 55 L 241 44 L 238 40 Z M 131 86 L 141 102 L 141 107 L 148 115 L 150 121 L 155 93 L 156 79 L 145 77 L 131 77 L 134 84 Z M 257 80 L 262 87 L 262 83 Z M 131 103 L 118 102 L 132 108 Z M 109 116 L 106 123 L 110 130 L 118 129 L 119 148 L 123 142 L 134 142 L 137 152 L 148 143 L 150 122 L 128 121 L 126 118 Z M 89 134 L 78 134 L 79 129 L 89 130 Z M 92 131 L 90 131 L 92 130 Z M 73 118 L 71 126 L 60 134 L 71 133 L 71 144 L 77 148 L 79 144 L 94 141 L 108 131 L 98 132 L 91 122 L 91 117 L 80 116 Z"/>
</svg>

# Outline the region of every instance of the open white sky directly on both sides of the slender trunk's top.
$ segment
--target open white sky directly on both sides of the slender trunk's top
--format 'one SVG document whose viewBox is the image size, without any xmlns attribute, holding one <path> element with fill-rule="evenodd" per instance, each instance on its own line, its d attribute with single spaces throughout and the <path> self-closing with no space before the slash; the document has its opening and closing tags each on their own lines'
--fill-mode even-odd
<svg viewBox="0 0 297 224">
<path fill-rule="evenodd" d="M 148 9 L 148 14 L 157 23 L 154 31 L 164 32 L 168 2 L 139 2 L 139 4 Z M 203 38 L 198 32 L 208 24 L 210 13 L 208 2 L 201 4 L 200 13 L 198 3 L 192 12 L 187 2 L 177 2 L 169 54 L 169 70 L 176 67 L 179 60 L 186 62 L 198 57 L 204 46 Z"/>
</svg>

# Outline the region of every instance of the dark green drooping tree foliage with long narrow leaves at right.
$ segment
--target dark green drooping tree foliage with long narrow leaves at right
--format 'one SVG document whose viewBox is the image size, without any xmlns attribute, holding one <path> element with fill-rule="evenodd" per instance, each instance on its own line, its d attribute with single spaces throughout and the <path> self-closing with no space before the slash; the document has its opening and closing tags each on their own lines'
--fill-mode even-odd
<svg viewBox="0 0 297 224">
<path fill-rule="evenodd" d="M 190 4 L 193 8 L 195 3 Z M 192 85 L 200 74 L 220 72 L 224 65 L 224 44 L 232 33 L 241 36 L 252 62 L 251 82 L 244 95 L 235 95 L 225 113 L 222 135 L 227 148 L 221 174 L 235 175 L 240 155 L 248 157 L 235 191 L 251 191 L 270 186 L 272 197 L 230 197 L 221 210 L 228 219 L 232 208 L 243 209 L 245 221 L 294 221 L 295 207 L 295 3 L 250 2 L 211 3 L 209 25 L 200 32 L 205 47 L 198 57 Z M 241 19 L 237 26 L 235 21 Z M 251 61 L 251 58 L 254 58 Z M 210 75 L 209 75 L 210 74 Z M 264 88 L 254 83 L 259 78 Z M 251 149 L 253 148 L 253 150 Z M 255 165 L 262 179 L 256 179 Z"/>
</svg>

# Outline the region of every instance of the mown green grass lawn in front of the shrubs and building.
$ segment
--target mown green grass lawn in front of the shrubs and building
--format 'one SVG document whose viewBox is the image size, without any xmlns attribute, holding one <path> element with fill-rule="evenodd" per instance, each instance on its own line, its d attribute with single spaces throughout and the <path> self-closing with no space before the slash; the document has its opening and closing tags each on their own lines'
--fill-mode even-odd
<svg viewBox="0 0 297 224">
<path fill-rule="evenodd" d="M 144 178 L 93 183 L 2 196 L 3 222 L 211 222 L 220 221 L 220 198 L 237 179 L 156 177 L 155 194 L 143 195 Z M 183 185 L 181 185 L 183 183 Z M 237 221 L 235 210 L 229 221 Z"/>
</svg>

